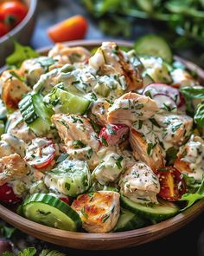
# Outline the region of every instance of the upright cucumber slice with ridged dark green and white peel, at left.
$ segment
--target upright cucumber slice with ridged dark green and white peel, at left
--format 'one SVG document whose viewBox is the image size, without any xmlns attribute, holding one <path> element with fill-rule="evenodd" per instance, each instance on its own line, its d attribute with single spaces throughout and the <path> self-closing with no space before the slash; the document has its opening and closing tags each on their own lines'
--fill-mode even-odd
<svg viewBox="0 0 204 256">
<path fill-rule="evenodd" d="M 52 124 L 50 118 L 54 111 L 44 104 L 42 95 L 26 95 L 18 106 L 23 120 L 35 135 L 42 136 L 48 133 Z"/>
</svg>

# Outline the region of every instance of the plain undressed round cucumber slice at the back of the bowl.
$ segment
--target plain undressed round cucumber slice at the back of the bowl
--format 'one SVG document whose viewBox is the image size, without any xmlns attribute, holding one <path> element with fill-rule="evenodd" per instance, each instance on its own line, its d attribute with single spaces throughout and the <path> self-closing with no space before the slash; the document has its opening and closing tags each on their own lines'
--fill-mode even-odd
<svg viewBox="0 0 204 256">
<path fill-rule="evenodd" d="M 138 55 L 160 56 L 164 61 L 173 61 L 172 51 L 169 44 L 161 36 L 142 36 L 135 43 L 135 50 Z"/>
</svg>

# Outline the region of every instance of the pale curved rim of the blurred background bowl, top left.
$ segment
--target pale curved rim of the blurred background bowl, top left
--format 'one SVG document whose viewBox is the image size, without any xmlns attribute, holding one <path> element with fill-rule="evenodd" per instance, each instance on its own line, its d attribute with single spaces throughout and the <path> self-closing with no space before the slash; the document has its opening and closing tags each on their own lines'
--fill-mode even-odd
<svg viewBox="0 0 204 256">
<path fill-rule="evenodd" d="M 6 42 L 8 39 L 10 39 L 10 37 L 15 36 L 20 30 L 22 30 L 26 26 L 27 23 L 29 23 L 30 19 L 35 13 L 37 1 L 38 0 L 30 0 L 30 6 L 27 15 L 23 18 L 21 23 L 16 25 L 13 30 L 10 30 L 10 32 L 0 37 L 0 43 Z"/>
</svg>

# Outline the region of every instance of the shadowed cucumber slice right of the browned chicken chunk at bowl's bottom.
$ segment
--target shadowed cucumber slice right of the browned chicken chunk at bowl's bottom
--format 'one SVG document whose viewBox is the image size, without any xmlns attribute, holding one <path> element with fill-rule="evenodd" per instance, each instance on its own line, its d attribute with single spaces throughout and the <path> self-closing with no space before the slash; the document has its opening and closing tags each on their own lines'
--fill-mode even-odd
<svg viewBox="0 0 204 256">
<path fill-rule="evenodd" d="M 121 208 L 121 213 L 114 228 L 114 232 L 128 231 L 143 226 L 147 226 L 148 221 L 144 220 L 141 216 L 131 213 L 130 211 Z"/>
</svg>

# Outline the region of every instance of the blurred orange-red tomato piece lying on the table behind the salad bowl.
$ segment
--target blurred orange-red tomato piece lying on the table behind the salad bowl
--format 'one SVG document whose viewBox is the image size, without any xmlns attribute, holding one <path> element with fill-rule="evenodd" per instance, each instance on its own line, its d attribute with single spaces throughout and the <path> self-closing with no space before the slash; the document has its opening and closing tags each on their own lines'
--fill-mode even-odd
<svg viewBox="0 0 204 256">
<path fill-rule="evenodd" d="M 48 28 L 48 36 L 54 43 L 83 39 L 88 23 L 84 16 L 72 16 Z"/>
</svg>

